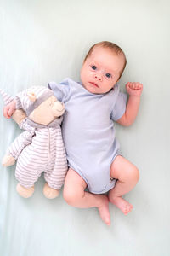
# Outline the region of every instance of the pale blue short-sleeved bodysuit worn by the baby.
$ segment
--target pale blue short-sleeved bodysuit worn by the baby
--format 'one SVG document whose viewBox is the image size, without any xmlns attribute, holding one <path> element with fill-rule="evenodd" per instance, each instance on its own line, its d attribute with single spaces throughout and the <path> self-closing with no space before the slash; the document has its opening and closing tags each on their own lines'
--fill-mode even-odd
<svg viewBox="0 0 170 256">
<path fill-rule="evenodd" d="M 121 154 L 116 141 L 113 120 L 125 113 L 127 96 L 119 85 L 106 94 L 93 94 L 81 83 L 65 79 L 48 87 L 65 104 L 62 134 L 68 165 L 87 183 L 94 194 L 109 191 L 111 163 Z"/>
</svg>

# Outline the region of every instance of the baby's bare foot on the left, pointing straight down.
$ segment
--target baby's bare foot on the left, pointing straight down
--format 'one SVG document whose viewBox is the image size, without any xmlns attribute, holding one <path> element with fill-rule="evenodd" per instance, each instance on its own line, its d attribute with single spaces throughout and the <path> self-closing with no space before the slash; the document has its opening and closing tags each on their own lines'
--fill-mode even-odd
<svg viewBox="0 0 170 256">
<path fill-rule="evenodd" d="M 107 225 L 111 225 L 111 215 L 109 212 L 109 200 L 106 195 L 102 195 L 102 204 L 99 209 L 100 218 L 105 222 Z"/>
</svg>

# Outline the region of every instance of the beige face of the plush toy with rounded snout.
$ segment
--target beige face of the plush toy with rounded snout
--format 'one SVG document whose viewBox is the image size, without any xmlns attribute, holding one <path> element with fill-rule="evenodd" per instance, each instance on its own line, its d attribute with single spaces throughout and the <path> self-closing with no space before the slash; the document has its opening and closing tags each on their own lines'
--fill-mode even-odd
<svg viewBox="0 0 170 256">
<path fill-rule="evenodd" d="M 29 118 L 37 124 L 48 125 L 64 112 L 64 104 L 59 102 L 55 96 L 50 96 L 32 111 Z"/>
</svg>

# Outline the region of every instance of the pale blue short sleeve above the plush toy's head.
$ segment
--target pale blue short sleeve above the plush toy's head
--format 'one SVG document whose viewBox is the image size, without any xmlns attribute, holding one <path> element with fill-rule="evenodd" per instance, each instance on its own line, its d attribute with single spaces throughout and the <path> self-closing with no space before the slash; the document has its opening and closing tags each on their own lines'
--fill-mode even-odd
<svg viewBox="0 0 170 256">
<path fill-rule="evenodd" d="M 66 102 L 66 98 L 68 97 L 70 90 L 70 85 L 66 79 L 60 84 L 50 82 L 48 83 L 48 88 L 54 91 L 54 95 L 60 102 Z"/>
</svg>

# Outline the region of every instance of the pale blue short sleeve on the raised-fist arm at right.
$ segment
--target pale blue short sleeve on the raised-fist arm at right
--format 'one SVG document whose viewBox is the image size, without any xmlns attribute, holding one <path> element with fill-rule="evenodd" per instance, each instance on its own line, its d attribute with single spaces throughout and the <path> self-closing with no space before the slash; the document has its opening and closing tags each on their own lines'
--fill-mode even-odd
<svg viewBox="0 0 170 256">
<path fill-rule="evenodd" d="M 125 113 L 127 106 L 127 95 L 125 93 L 119 92 L 115 106 L 111 112 L 111 119 L 114 121 L 121 119 L 123 114 Z"/>
</svg>

